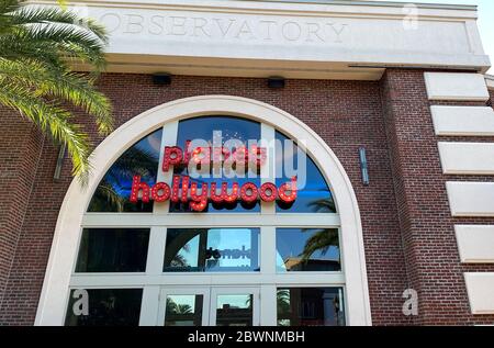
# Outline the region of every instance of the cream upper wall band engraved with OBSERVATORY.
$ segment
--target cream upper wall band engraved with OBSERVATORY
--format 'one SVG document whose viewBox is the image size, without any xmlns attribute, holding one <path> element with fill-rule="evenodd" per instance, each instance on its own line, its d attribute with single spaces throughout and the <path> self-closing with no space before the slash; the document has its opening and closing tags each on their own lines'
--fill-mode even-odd
<svg viewBox="0 0 494 348">
<path fill-rule="evenodd" d="M 49 1 L 34 1 L 49 3 Z M 383 1 L 71 0 L 111 35 L 111 71 L 379 79 L 490 67 L 476 7 Z"/>
</svg>

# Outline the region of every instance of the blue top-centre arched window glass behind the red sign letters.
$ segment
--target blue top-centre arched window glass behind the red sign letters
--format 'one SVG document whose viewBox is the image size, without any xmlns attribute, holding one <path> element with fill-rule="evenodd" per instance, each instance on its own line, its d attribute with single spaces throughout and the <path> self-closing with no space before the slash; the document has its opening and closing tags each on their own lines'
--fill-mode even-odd
<svg viewBox="0 0 494 348">
<path fill-rule="evenodd" d="M 182 149 L 186 149 L 187 141 L 195 141 L 203 139 L 209 142 L 211 145 L 216 144 L 213 143 L 213 134 L 214 132 L 222 132 L 223 144 L 225 142 L 232 139 L 238 139 L 244 143 L 245 146 L 248 145 L 249 141 L 259 141 L 260 139 L 260 124 L 254 121 L 248 121 L 238 117 L 232 116 L 202 116 L 195 119 L 188 119 L 179 122 L 178 127 L 178 137 L 177 137 L 177 146 Z M 182 176 L 191 176 L 188 172 L 188 167 L 176 167 L 173 168 L 173 173 L 182 175 Z M 228 188 L 232 188 L 233 182 L 238 182 L 239 187 L 242 187 L 246 182 L 254 182 L 258 187 L 260 186 L 259 176 L 251 173 L 247 177 L 238 177 L 228 178 L 225 177 L 224 173 L 217 172 L 215 176 L 212 176 L 212 172 L 207 175 L 201 175 L 199 178 L 191 179 L 191 182 L 198 182 L 199 186 L 203 182 L 211 184 L 211 182 L 216 182 L 217 188 L 221 188 L 221 183 L 223 181 L 228 182 Z M 211 187 L 211 186 L 210 186 Z M 251 204 L 245 203 L 232 203 L 232 204 L 214 204 L 210 202 L 204 212 L 259 212 L 260 205 L 259 202 L 254 202 Z M 182 203 L 170 203 L 170 212 L 190 212 L 189 204 Z"/>
</svg>

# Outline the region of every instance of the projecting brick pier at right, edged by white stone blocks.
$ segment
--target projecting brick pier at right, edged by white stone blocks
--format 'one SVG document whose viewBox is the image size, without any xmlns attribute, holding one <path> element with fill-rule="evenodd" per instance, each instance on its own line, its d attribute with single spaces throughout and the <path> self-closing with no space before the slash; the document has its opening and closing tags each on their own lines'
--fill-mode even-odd
<svg viewBox="0 0 494 348">
<path fill-rule="evenodd" d="M 442 138 L 434 133 L 423 71 L 388 70 L 382 103 L 406 269 L 420 300 L 415 324 L 492 324 L 492 315 L 470 314 L 463 272 L 494 267 L 460 265 L 453 229 L 454 224 L 492 220 L 451 217 L 446 181 L 473 179 L 442 175 L 437 148 Z"/>
</svg>

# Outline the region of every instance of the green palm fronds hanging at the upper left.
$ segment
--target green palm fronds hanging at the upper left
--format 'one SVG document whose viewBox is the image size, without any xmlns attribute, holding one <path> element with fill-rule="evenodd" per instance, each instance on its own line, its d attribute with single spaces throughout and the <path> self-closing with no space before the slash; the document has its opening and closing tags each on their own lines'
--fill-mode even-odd
<svg viewBox="0 0 494 348">
<path fill-rule="evenodd" d="M 0 0 L 0 104 L 14 109 L 55 143 L 67 146 L 72 175 L 86 183 L 89 136 L 74 122 L 69 106 L 96 119 L 100 134 L 113 128 L 109 100 L 94 87 L 105 65 L 105 30 L 59 7 L 32 7 L 26 0 Z M 72 71 L 85 64 L 93 71 Z"/>
</svg>

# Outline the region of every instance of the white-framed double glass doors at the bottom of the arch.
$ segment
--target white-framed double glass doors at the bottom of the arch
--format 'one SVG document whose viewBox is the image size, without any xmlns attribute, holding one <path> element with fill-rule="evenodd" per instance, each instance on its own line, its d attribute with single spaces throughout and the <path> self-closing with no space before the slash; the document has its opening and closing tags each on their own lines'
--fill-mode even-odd
<svg viewBox="0 0 494 348">
<path fill-rule="evenodd" d="M 160 295 L 158 325 L 258 326 L 258 288 L 177 288 Z"/>
</svg>

